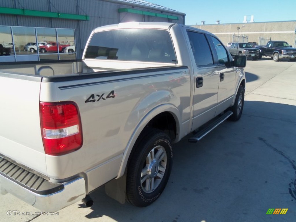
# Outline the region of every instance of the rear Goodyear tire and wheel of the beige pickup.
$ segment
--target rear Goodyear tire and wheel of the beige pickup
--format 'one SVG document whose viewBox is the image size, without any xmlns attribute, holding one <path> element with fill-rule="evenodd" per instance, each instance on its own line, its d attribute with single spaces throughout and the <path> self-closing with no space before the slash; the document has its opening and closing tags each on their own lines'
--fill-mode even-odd
<svg viewBox="0 0 296 222">
<path fill-rule="evenodd" d="M 128 162 L 126 199 L 134 206 L 146 207 L 165 189 L 172 169 L 173 149 L 166 133 L 150 128 L 137 140 L 133 150 Z"/>
</svg>

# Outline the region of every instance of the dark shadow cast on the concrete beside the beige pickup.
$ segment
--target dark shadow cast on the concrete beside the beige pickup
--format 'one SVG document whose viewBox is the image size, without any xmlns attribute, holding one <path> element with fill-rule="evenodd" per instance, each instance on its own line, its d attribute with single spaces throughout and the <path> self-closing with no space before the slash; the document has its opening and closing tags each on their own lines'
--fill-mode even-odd
<svg viewBox="0 0 296 222">
<path fill-rule="evenodd" d="M 101 187 L 91 194 L 94 205 L 85 217 L 120 222 L 269 221 L 269 208 L 285 207 L 285 219 L 294 221 L 295 113 L 294 105 L 245 101 L 238 122 L 222 123 L 196 144 L 187 142 L 188 135 L 173 145 L 170 179 L 152 205 L 122 205 Z"/>
</svg>

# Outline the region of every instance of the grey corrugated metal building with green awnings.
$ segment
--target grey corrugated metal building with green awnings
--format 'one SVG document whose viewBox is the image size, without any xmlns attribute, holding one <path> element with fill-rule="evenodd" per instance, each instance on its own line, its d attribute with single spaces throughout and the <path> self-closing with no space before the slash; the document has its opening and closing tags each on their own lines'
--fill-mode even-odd
<svg viewBox="0 0 296 222">
<path fill-rule="evenodd" d="M 185 15 L 142 0 L 1 0 L 0 53 L 7 56 L 0 56 L 0 62 L 79 59 L 98 26 L 129 21 L 185 24 Z M 54 47 L 55 42 L 55 49 L 44 46 Z M 71 46 L 71 53 L 58 48 L 62 45 Z"/>
</svg>

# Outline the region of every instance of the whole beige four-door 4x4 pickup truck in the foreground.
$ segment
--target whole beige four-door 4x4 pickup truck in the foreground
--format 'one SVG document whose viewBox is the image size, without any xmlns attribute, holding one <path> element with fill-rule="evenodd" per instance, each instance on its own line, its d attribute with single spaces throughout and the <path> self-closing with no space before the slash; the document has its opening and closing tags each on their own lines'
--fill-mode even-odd
<svg viewBox="0 0 296 222">
<path fill-rule="evenodd" d="M 246 57 L 213 34 L 162 22 L 93 30 L 81 61 L 0 66 L 0 192 L 56 211 L 106 185 L 147 206 L 172 144 L 196 142 L 244 106 Z"/>
</svg>

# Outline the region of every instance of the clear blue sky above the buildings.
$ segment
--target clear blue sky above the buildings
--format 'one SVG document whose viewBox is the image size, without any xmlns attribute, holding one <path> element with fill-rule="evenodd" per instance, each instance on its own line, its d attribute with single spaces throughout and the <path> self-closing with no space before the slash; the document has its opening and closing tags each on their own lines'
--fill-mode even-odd
<svg viewBox="0 0 296 222">
<path fill-rule="evenodd" d="M 255 22 L 296 21 L 296 0 L 146 0 L 178 12 L 183 12 L 185 25 L 237 23 L 244 15 L 254 15 Z M 296 28 L 296 27 L 295 27 Z"/>
</svg>

